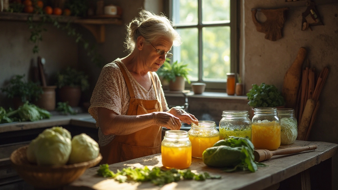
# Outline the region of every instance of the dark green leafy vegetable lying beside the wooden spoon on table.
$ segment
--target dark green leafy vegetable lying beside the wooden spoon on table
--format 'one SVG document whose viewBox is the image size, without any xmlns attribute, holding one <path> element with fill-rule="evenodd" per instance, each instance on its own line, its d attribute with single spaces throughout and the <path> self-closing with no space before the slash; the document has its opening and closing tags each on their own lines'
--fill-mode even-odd
<svg viewBox="0 0 338 190">
<path fill-rule="evenodd" d="M 208 166 L 225 168 L 225 172 L 239 170 L 255 172 L 257 166 L 266 166 L 255 162 L 254 145 L 242 137 L 230 137 L 216 142 L 213 147 L 204 150 L 203 162 Z"/>
</svg>

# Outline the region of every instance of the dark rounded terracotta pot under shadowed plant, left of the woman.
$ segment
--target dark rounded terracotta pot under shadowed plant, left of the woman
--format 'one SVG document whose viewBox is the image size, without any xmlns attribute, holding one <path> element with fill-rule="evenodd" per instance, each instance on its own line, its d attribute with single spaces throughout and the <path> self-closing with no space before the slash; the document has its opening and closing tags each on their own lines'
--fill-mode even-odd
<svg viewBox="0 0 338 190">
<path fill-rule="evenodd" d="M 64 86 L 59 89 L 58 96 L 60 101 L 67 102 L 71 107 L 77 107 L 81 98 L 80 87 Z"/>
</svg>

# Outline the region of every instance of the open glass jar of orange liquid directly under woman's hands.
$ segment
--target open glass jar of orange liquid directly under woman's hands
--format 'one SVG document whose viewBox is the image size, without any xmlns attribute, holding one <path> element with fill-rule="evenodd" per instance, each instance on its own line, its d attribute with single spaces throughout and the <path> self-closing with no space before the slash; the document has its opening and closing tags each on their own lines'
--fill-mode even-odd
<svg viewBox="0 0 338 190">
<path fill-rule="evenodd" d="M 214 121 L 198 121 L 198 126 L 191 123 L 188 132 L 192 146 L 192 157 L 202 158 L 202 153 L 219 141 L 219 132 Z"/>
</svg>

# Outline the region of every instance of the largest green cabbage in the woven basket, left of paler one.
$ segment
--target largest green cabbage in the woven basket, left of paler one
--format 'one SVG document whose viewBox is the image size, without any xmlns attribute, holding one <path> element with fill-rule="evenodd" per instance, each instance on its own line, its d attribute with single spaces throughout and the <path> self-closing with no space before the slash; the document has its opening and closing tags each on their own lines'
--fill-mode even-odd
<svg viewBox="0 0 338 190">
<path fill-rule="evenodd" d="M 34 143 L 38 165 L 64 165 L 72 149 L 71 140 L 51 129 L 44 130 Z"/>
</svg>

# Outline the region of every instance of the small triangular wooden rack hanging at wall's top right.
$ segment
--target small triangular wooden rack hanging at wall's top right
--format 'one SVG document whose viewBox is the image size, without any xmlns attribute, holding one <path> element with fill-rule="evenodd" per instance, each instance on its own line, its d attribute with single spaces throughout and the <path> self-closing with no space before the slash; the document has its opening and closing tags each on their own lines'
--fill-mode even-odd
<svg viewBox="0 0 338 190">
<path fill-rule="evenodd" d="M 306 2 L 306 6 L 306 11 L 301 14 L 303 16 L 303 19 L 301 21 L 301 30 L 306 30 L 310 28 L 310 30 L 312 31 L 311 26 L 324 25 L 320 19 L 315 3 L 311 0 L 308 0 Z"/>
</svg>

